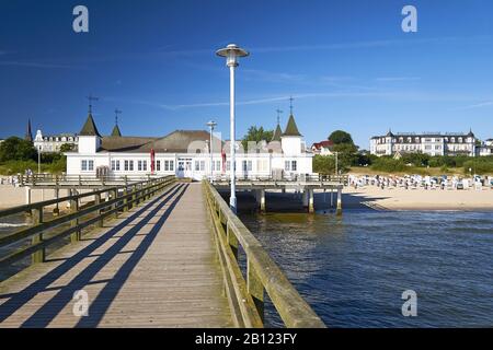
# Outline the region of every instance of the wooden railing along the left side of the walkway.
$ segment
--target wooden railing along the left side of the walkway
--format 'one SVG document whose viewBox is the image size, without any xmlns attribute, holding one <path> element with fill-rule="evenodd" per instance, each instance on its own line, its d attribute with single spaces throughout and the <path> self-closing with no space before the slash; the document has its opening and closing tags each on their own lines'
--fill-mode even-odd
<svg viewBox="0 0 493 350">
<path fill-rule="evenodd" d="M 0 268 L 10 266 L 30 255 L 32 256 L 33 262 L 43 262 L 48 246 L 60 242 L 60 240 L 69 235 L 71 242 L 79 241 L 82 229 L 91 225 L 102 226 L 104 219 L 111 215 L 116 217 L 118 212 L 127 211 L 129 208 L 138 206 L 174 182 L 174 176 L 165 176 L 134 183 L 131 185 L 115 186 L 87 194 L 72 195 L 0 210 L 0 219 L 13 214 L 30 213 L 33 220 L 32 225 L 0 237 L 0 248 L 31 238 L 31 245 L 0 257 Z M 81 206 L 81 199 L 85 198 L 89 200 L 92 199 L 91 197 L 94 198 L 93 201 Z M 103 197 L 105 197 L 105 200 L 103 200 Z M 44 212 L 46 208 L 64 202 L 70 203 L 70 212 L 45 221 Z M 58 230 L 59 232 L 57 231 L 50 234 L 49 237 L 46 237 L 46 233 L 53 233 L 51 230 L 58 228 L 60 228 Z"/>
</svg>

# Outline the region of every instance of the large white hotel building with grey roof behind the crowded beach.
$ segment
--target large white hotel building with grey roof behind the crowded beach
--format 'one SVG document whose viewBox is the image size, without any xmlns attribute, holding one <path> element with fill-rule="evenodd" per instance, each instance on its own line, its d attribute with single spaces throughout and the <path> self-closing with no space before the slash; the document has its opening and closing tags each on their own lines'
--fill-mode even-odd
<svg viewBox="0 0 493 350">
<path fill-rule="evenodd" d="M 474 156 L 475 137 L 469 133 L 392 133 L 372 137 L 370 153 L 378 156 L 395 153 L 424 153 L 434 155 L 469 155 Z"/>
</svg>

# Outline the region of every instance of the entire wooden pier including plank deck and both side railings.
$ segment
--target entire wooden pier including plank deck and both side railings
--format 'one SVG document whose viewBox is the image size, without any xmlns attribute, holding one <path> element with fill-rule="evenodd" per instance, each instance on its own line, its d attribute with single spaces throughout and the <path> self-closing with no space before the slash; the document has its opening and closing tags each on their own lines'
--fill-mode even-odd
<svg viewBox="0 0 493 350">
<path fill-rule="evenodd" d="M 67 200 L 72 212 L 45 220 L 46 206 Z M 149 179 L 0 218 L 25 211 L 34 224 L 0 238 L 20 246 L 0 268 L 33 265 L 0 283 L 0 327 L 262 327 L 264 292 L 286 326 L 324 327 L 208 183 Z"/>
</svg>

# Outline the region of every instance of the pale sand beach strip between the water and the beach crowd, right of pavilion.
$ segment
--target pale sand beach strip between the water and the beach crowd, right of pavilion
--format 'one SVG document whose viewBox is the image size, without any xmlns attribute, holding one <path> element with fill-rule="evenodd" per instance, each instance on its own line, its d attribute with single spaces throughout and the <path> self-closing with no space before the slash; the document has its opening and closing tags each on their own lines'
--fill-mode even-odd
<svg viewBox="0 0 493 350">
<path fill-rule="evenodd" d="M 378 188 L 365 186 L 345 187 L 343 208 L 367 206 L 388 210 L 463 210 L 493 211 L 493 189 L 442 190 Z"/>
</svg>

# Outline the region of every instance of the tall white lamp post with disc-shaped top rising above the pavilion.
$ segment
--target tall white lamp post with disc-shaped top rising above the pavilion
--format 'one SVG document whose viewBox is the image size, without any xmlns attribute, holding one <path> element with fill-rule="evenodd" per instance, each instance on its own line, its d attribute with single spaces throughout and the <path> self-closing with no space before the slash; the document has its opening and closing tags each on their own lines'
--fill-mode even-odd
<svg viewBox="0 0 493 350">
<path fill-rule="evenodd" d="M 234 68 L 238 67 L 240 57 L 249 56 L 244 49 L 234 44 L 229 44 L 227 47 L 217 50 L 217 56 L 226 57 L 226 66 L 229 67 L 230 73 L 230 177 L 231 177 L 231 197 L 229 198 L 229 207 L 233 212 L 237 212 L 237 192 L 236 192 L 236 135 L 234 135 Z"/>
</svg>

